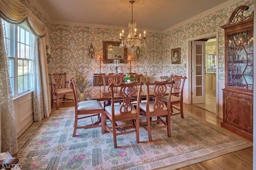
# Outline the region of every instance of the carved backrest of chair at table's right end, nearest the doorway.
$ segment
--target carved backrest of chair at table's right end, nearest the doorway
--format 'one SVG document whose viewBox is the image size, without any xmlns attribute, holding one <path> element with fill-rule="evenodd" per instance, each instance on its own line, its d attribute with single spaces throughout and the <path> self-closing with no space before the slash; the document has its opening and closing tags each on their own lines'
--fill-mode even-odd
<svg viewBox="0 0 256 170">
<path fill-rule="evenodd" d="M 173 88 L 180 91 L 178 94 L 174 94 L 177 97 L 180 97 L 180 99 L 183 99 L 183 88 L 185 84 L 185 80 L 187 79 L 186 76 L 182 77 L 181 75 L 171 75 L 170 79 L 172 81 L 175 81 Z"/>
</svg>

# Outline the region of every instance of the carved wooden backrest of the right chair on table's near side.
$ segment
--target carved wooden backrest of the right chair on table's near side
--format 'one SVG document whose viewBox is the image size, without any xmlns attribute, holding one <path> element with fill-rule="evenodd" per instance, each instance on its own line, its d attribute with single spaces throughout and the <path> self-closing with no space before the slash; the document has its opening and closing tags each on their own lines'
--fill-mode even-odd
<svg viewBox="0 0 256 170">
<path fill-rule="evenodd" d="M 167 109 L 170 111 L 170 100 L 172 95 L 172 87 L 174 81 L 155 81 L 154 83 L 146 83 L 147 85 L 147 106 L 146 110 L 149 111 L 149 101 L 150 101 L 150 88 L 154 89 L 154 110 L 163 110 L 164 109 L 164 101 L 163 97 L 166 95 L 167 89 L 169 88 L 168 92 L 168 101 L 167 101 Z M 169 87 L 167 87 L 169 86 Z"/>
</svg>

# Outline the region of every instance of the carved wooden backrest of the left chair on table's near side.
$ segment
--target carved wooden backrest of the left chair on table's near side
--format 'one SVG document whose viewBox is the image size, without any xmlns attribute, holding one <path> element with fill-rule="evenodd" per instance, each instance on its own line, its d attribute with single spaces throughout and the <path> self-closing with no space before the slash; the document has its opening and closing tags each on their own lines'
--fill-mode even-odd
<svg viewBox="0 0 256 170">
<path fill-rule="evenodd" d="M 134 96 L 137 96 L 137 113 L 140 110 L 140 93 L 142 88 L 142 83 L 120 83 L 115 85 L 114 83 L 110 84 L 111 91 L 111 105 L 112 105 L 112 115 L 114 115 L 114 101 L 116 95 L 120 95 L 122 98 L 122 103 L 120 107 L 120 114 L 132 113 L 132 99 Z M 118 89 L 118 94 L 115 93 L 115 89 Z"/>
</svg>

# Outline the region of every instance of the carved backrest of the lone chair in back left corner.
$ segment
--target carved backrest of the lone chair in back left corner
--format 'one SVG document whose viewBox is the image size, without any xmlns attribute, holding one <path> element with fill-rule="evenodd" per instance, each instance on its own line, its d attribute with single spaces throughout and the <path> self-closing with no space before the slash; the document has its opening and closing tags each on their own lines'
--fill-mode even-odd
<svg viewBox="0 0 256 170">
<path fill-rule="evenodd" d="M 66 73 L 53 73 L 48 74 L 52 91 L 56 89 L 67 88 L 66 87 Z"/>
</svg>

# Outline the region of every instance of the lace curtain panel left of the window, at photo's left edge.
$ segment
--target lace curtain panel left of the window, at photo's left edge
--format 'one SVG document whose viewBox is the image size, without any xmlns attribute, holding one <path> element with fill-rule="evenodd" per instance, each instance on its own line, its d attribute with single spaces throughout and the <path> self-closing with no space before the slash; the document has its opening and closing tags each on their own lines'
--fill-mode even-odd
<svg viewBox="0 0 256 170">
<path fill-rule="evenodd" d="M 0 20 L 0 151 L 15 154 L 18 151 L 17 132 L 8 62 L 4 45 L 4 30 Z"/>
</svg>

